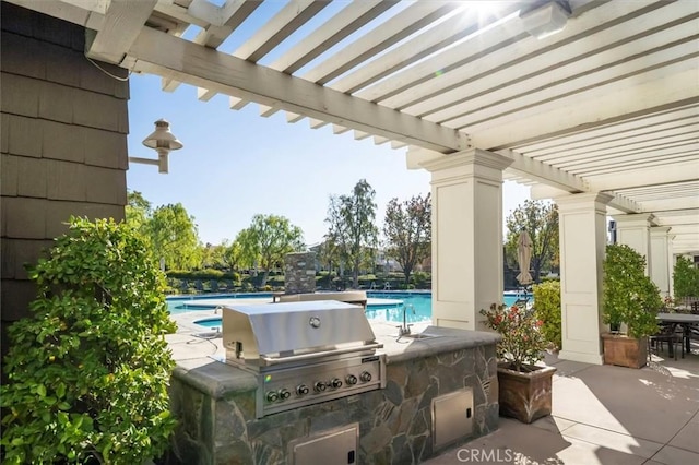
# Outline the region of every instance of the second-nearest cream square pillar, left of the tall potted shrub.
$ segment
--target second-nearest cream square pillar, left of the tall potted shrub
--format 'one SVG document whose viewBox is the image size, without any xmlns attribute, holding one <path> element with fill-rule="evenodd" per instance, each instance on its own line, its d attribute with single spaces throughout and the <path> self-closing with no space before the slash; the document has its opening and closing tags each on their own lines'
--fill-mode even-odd
<svg viewBox="0 0 699 465">
<path fill-rule="evenodd" d="M 602 262 L 606 204 L 602 193 L 555 199 L 560 241 L 562 349 L 559 358 L 602 365 Z"/>
</svg>

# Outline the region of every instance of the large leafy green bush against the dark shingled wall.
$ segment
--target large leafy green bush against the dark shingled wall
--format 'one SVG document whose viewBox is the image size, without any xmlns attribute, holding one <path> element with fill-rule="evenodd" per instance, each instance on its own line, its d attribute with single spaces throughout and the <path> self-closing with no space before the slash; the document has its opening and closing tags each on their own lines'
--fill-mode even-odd
<svg viewBox="0 0 699 465">
<path fill-rule="evenodd" d="M 175 330 L 164 275 L 131 228 L 71 218 L 29 275 L 33 318 L 9 329 L 4 463 L 159 456 L 175 427 L 167 385 Z"/>
</svg>

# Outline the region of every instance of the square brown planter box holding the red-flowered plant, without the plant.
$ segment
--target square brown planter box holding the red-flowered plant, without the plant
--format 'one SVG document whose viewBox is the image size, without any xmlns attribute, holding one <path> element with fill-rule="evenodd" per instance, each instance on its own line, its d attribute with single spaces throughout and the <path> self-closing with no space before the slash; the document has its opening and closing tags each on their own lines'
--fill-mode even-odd
<svg viewBox="0 0 699 465">
<path fill-rule="evenodd" d="M 556 367 L 528 366 L 522 373 L 498 365 L 500 416 L 531 424 L 550 415 L 552 378 Z"/>
</svg>

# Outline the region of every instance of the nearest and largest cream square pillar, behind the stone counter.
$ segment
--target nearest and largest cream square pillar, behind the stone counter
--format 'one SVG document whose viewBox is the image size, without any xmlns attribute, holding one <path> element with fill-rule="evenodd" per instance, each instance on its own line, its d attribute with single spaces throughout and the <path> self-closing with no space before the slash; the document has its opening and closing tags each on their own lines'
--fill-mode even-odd
<svg viewBox="0 0 699 465">
<path fill-rule="evenodd" d="M 502 170 L 477 148 L 422 166 L 431 172 L 433 324 L 483 331 L 478 313 L 502 301 Z"/>
</svg>

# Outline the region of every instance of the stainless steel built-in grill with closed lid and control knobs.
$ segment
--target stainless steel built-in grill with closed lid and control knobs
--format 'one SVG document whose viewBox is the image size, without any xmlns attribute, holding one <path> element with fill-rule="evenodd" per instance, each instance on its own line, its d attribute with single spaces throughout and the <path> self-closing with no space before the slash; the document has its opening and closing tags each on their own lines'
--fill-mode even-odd
<svg viewBox="0 0 699 465">
<path fill-rule="evenodd" d="M 223 309 L 226 362 L 258 378 L 258 418 L 386 388 L 383 347 L 359 306 L 335 300 Z"/>
</svg>

